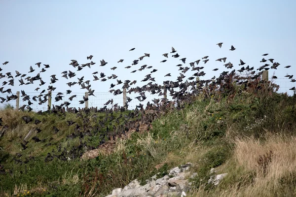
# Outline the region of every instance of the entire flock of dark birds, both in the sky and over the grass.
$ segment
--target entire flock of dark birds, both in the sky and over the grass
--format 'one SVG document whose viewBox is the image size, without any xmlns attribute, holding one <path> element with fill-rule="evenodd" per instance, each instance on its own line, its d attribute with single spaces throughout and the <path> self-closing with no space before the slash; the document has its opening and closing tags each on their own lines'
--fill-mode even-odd
<svg viewBox="0 0 296 197">
<path fill-rule="evenodd" d="M 218 43 L 218 47 L 222 48 L 222 42 Z M 134 51 L 135 48 L 130 49 L 129 51 Z M 234 51 L 236 50 L 236 48 L 234 46 L 231 45 L 230 51 Z M 171 54 L 171 55 L 169 55 Z M 98 108 L 98 107 L 92 107 L 92 108 L 82 108 L 82 109 L 76 109 L 75 107 L 69 107 L 69 105 L 71 104 L 71 101 L 76 97 L 76 95 L 73 95 L 69 98 L 69 101 L 64 101 L 63 98 L 63 93 L 57 93 L 57 96 L 54 98 L 55 101 L 60 101 L 63 100 L 64 102 L 60 105 L 53 105 L 51 110 L 48 110 L 50 113 L 55 113 L 59 116 L 66 116 L 65 112 L 70 112 L 70 113 L 75 113 L 77 114 L 77 117 L 81 118 L 83 120 L 83 124 L 79 125 L 73 121 L 67 121 L 67 124 L 69 127 L 71 127 L 72 125 L 74 125 L 74 131 L 72 134 L 67 136 L 67 139 L 74 139 L 76 137 L 79 137 L 79 141 L 80 144 L 79 146 L 73 147 L 71 150 L 67 150 L 65 147 L 64 149 L 61 147 L 61 144 L 57 145 L 56 151 L 53 150 L 52 153 L 48 153 L 47 156 L 45 157 L 45 162 L 51 161 L 55 158 L 58 158 L 60 160 L 66 161 L 67 159 L 71 158 L 71 159 L 75 159 L 77 157 L 80 157 L 85 149 L 87 150 L 91 150 L 91 149 L 95 149 L 98 146 L 104 144 L 106 142 L 106 140 L 110 140 L 110 139 L 115 139 L 116 136 L 122 136 L 122 135 L 126 135 L 127 131 L 135 130 L 135 131 L 139 131 L 140 125 L 147 125 L 149 128 L 150 123 L 163 111 L 165 110 L 165 107 L 172 104 L 172 101 L 166 99 L 165 97 L 162 99 L 153 99 L 152 102 L 147 102 L 147 106 L 146 109 L 153 109 L 154 112 L 151 114 L 148 114 L 145 112 L 145 106 L 143 104 L 139 104 L 136 106 L 136 108 L 134 110 L 130 110 L 128 112 L 127 115 L 120 115 L 119 117 L 114 116 L 113 112 L 114 111 L 125 111 L 126 107 L 128 106 L 128 103 L 132 100 L 132 99 L 137 99 L 140 102 L 144 101 L 147 99 L 146 96 L 146 92 L 149 92 L 151 95 L 158 95 L 158 96 L 162 96 L 164 94 L 163 89 L 166 89 L 168 91 L 168 93 L 173 97 L 173 99 L 177 100 L 177 103 L 180 102 L 180 100 L 190 100 L 190 96 L 191 95 L 196 95 L 199 94 L 203 88 L 205 84 L 211 84 L 212 86 L 219 86 L 222 83 L 224 83 L 225 81 L 227 81 L 230 76 L 235 76 L 236 78 L 236 82 L 238 84 L 248 84 L 249 81 L 251 79 L 256 79 L 259 78 L 263 72 L 263 70 L 268 70 L 268 69 L 277 69 L 278 66 L 280 66 L 279 63 L 275 62 L 274 59 L 269 58 L 267 59 L 266 57 L 268 56 L 268 54 L 263 54 L 263 58 L 260 61 L 260 63 L 262 63 L 262 66 L 259 66 L 259 68 L 254 68 L 254 66 L 245 66 L 246 63 L 242 60 L 240 60 L 239 65 L 235 66 L 233 65 L 231 62 L 226 62 L 226 57 L 222 57 L 217 59 L 216 61 L 219 61 L 223 64 L 223 66 L 225 66 L 225 68 L 230 69 L 230 71 L 223 71 L 222 73 L 220 73 L 219 77 L 212 77 L 211 79 L 208 80 L 196 80 L 196 77 L 201 77 L 204 76 L 206 73 L 203 71 L 204 65 L 207 64 L 207 62 L 209 61 L 209 56 L 204 56 L 201 59 L 198 59 L 194 62 L 186 62 L 186 58 L 181 57 L 178 53 L 177 50 L 172 47 L 172 50 L 169 53 L 164 53 L 162 54 L 162 56 L 165 58 L 164 60 L 160 61 L 160 63 L 165 63 L 167 61 L 167 59 L 169 58 L 180 58 L 180 64 L 176 65 L 178 70 L 180 70 L 180 75 L 177 77 L 177 79 L 175 81 L 172 80 L 167 80 L 167 81 L 163 81 L 161 83 L 161 85 L 157 84 L 157 83 L 153 83 L 155 82 L 155 77 L 153 77 L 153 73 L 157 72 L 157 69 L 153 66 L 147 66 L 147 65 L 143 65 L 138 67 L 137 69 L 135 68 L 134 70 L 131 71 L 131 73 L 135 73 L 138 71 L 143 71 L 143 70 L 148 70 L 148 74 L 145 76 L 145 78 L 142 80 L 142 82 L 147 82 L 146 85 L 142 86 L 142 87 L 131 87 L 132 85 L 135 85 L 137 83 L 136 80 L 120 80 L 117 79 L 117 75 L 115 74 L 111 74 L 111 76 L 106 76 L 104 74 L 104 72 L 93 72 L 93 79 L 92 81 L 97 81 L 100 80 L 102 82 L 105 82 L 107 80 L 111 80 L 111 79 L 116 79 L 117 83 L 111 83 L 110 85 L 110 92 L 113 93 L 113 95 L 119 95 L 122 94 L 123 88 L 126 88 L 128 90 L 128 93 L 138 93 L 139 96 L 135 97 L 135 98 L 129 98 L 127 97 L 127 102 L 126 102 L 126 106 L 118 106 L 117 103 L 113 103 L 113 99 L 110 99 L 108 102 L 105 103 L 105 106 L 102 108 Z M 171 57 L 170 57 L 171 56 Z M 93 65 L 96 65 L 95 62 L 93 62 L 93 55 L 88 56 L 86 59 L 89 60 L 89 63 L 85 63 L 85 64 L 79 64 L 76 60 L 71 60 L 70 66 L 73 66 L 76 71 L 80 71 L 82 69 L 84 69 L 85 67 L 91 67 Z M 140 61 L 142 61 L 144 58 L 149 58 L 150 54 L 148 53 L 144 53 L 143 56 L 139 57 L 137 60 L 134 60 L 131 63 L 131 66 L 126 66 L 126 69 L 129 68 L 134 68 L 136 67 L 136 65 L 138 65 L 140 63 Z M 265 59 L 266 58 L 266 59 Z M 117 63 L 123 63 L 123 59 L 120 59 Z M 203 62 L 203 65 L 200 65 L 200 61 Z M 6 66 L 9 62 L 6 61 L 4 62 L 2 65 Z M 100 61 L 100 65 L 99 66 L 106 66 L 108 64 L 108 62 L 106 62 L 104 59 Z M 45 86 L 46 82 L 44 82 L 40 76 L 41 72 L 45 72 L 46 69 L 50 68 L 49 65 L 46 64 L 42 64 L 40 62 L 35 64 L 36 67 L 30 66 L 30 70 L 28 71 L 28 73 L 34 73 L 37 68 L 40 68 L 41 65 L 43 65 L 41 67 L 41 70 L 35 75 L 35 76 L 27 76 L 27 74 L 22 74 L 20 72 L 18 72 L 17 70 L 15 70 L 15 76 L 13 76 L 13 74 L 11 72 L 7 72 L 5 74 L 0 73 L 0 78 L 2 79 L 6 79 L 6 81 L 4 81 L 2 83 L 2 87 L 0 88 L 0 92 L 2 94 L 4 93 L 8 93 L 11 94 L 10 96 L 6 96 L 6 98 L 2 98 L 1 99 L 1 103 L 3 103 L 4 101 L 9 101 L 9 100 L 13 100 L 13 99 L 17 99 L 17 96 L 12 94 L 11 89 L 7 88 L 4 89 L 4 86 L 14 86 L 14 80 L 15 78 L 19 78 L 19 85 L 29 85 L 29 84 L 34 84 L 35 81 L 39 82 L 39 87 L 37 87 L 35 90 L 39 91 L 39 89 L 43 89 L 42 87 Z M 239 69 L 232 69 L 233 67 L 238 67 Z M 285 66 L 285 68 L 289 68 L 291 66 Z M 111 67 L 111 70 L 115 70 L 117 67 Z M 217 71 L 219 68 L 215 68 L 213 69 L 213 71 Z M 0 68 L 0 71 L 2 69 Z M 191 70 L 194 73 L 189 76 L 188 78 L 185 79 L 185 73 Z M 239 75 L 236 75 L 235 73 L 237 72 L 247 72 L 250 74 L 249 78 L 240 78 Z M 71 87 L 79 85 L 81 87 L 81 89 L 85 89 L 88 91 L 88 96 L 94 96 L 94 91 L 91 88 L 91 79 L 84 79 L 84 76 L 77 78 L 78 81 L 70 81 L 71 79 L 74 79 L 74 77 L 76 76 L 75 71 L 71 71 L 71 70 L 65 70 L 61 73 L 61 77 L 64 77 L 66 79 L 69 80 L 69 82 L 67 83 L 67 85 L 69 86 L 69 90 L 67 90 L 66 94 L 71 94 Z M 171 73 L 167 73 L 164 75 L 165 77 L 170 77 Z M 50 85 L 48 85 L 48 88 L 44 88 L 39 96 L 34 96 L 33 98 L 30 98 L 30 96 L 28 96 L 25 91 L 21 90 L 21 98 L 23 98 L 23 101 L 28 101 L 28 104 L 23 105 L 19 108 L 19 110 L 24 111 L 25 109 L 28 109 L 29 111 L 33 110 L 30 105 L 33 104 L 32 101 L 37 101 L 39 105 L 46 103 L 48 97 L 50 96 L 50 93 L 46 92 L 46 90 L 50 90 L 50 91 L 54 91 L 56 89 L 56 87 L 54 87 L 54 84 L 59 80 L 59 77 L 54 74 L 50 76 Z M 291 79 L 291 82 L 295 82 L 296 80 L 293 78 L 293 75 L 286 75 L 285 77 Z M 276 76 L 272 76 L 272 78 L 277 78 Z M 120 88 L 116 89 L 115 86 L 119 86 Z M 122 86 L 121 86 L 122 85 Z M 176 90 L 178 89 L 178 90 Z M 295 87 L 291 88 L 290 90 L 295 90 Z M 80 104 L 83 104 L 85 101 L 88 100 L 88 97 L 83 97 L 82 100 L 79 100 Z M 108 108 L 107 105 L 111 104 L 112 108 Z M 47 111 L 47 112 L 48 112 Z M 90 116 L 90 112 L 95 112 L 93 113 L 93 115 Z M 97 118 L 96 112 L 105 112 L 106 113 L 106 117 L 103 120 L 100 120 L 98 125 L 93 127 L 91 126 L 90 121 L 94 118 Z M 37 114 L 42 115 L 45 112 L 42 111 L 38 111 Z M 136 118 L 136 119 L 135 119 Z M 38 128 L 38 125 L 42 122 L 38 119 L 33 119 L 30 116 L 23 116 L 22 120 L 24 121 L 25 124 L 34 124 L 36 125 L 36 131 L 37 133 L 41 132 L 41 129 Z M 111 126 L 111 122 L 115 123 L 115 125 Z M 2 131 L 5 131 L 7 129 L 9 129 L 9 127 L 7 125 L 2 125 L 2 120 L 0 118 L 0 126 L 2 127 Z M 3 130 L 4 129 L 4 130 Z M 52 132 L 53 133 L 58 133 L 60 131 L 59 128 L 57 128 L 57 126 L 53 126 L 52 127 Z M 3 132 L 2 132 L 3 133 Z M 1 135 L 1 133 L 0 133 Z M 97 147 L 94 146 L 88 146 L 86 141 L 83 141 L 84 136 L 94 136 L 94 135 L 99 135 L 100 136 L 100 143 L 98 144 Z M 50 145 L 54 145 L 51 144 L 51 140 L 53 138 L 45 138 L 45 139 L 39 139 L 37 136 L 34 136 L 32 138 L 32 140 L 35 143 L 46 143 L 46 146 L 50 146 Z M 23 141 L 21 142 L 21 147 L 23 148 L 22 150 L 26 150 L 27 149 L 27 144 L 29 141 Z M 25 160 L 20 160 L 17 158 L 20 158 L 22 156 L 21 153 L 16 154 L 13 157 L 13 160 L 16 163 L 19 164 L 23 164 L 23 163 L 28 163 L 31 159 L 30 158 L 26 158 Z M 34 159 L 34 158 L 33 158 Z"/>
</svg>

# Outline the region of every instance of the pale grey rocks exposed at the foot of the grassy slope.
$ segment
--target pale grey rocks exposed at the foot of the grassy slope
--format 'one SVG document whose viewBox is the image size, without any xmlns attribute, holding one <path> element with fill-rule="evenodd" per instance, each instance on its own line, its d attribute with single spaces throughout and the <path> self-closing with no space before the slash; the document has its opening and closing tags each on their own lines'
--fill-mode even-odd
<svg viewBox="0 0 296 197">
<path fill-rule="evenodd" d="M 146 184 L 141 186 L 140 182 L 135 179 L 127 186 L 116 188 L 111 195 L 106 197 L 185 197 L 186 193 L 191 189 L 192 182 L 189 178 L 194 178 L 197 173 L 190 173 L 191 163 L 175 167 L 168 171 L 168 175 L 157 179 L 157 174 L 146 180 Z M 215 173 L 215 169 L 211 169 L 211 173 Z M 227 175 L 219 174 L 211 176 L 209 184 L 218 185 L 222 178 Z"/>
</svg>

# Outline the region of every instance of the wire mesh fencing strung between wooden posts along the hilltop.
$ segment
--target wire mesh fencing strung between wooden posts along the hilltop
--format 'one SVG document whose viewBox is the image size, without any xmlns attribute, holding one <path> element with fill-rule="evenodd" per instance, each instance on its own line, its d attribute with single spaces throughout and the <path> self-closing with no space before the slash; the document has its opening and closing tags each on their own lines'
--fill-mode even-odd
<svg viewBox="0 0 296 197">
<path fill-rule="evenodd" d="M 293 90 L 290 90 L 291 88 L 295 87 L 296 83 L 291 82 L 291 79 L 269 79 L 273 83 L 280 86 L 278 92 L 279 93 L 287 93 L 288 95 L 292 96 L 294 94 Z M 179 88 L 174 88 L 174 91 L 178 91 Z M 159 93 L 151 94 L 150 92 L 145 92 L 145 100 L 142 100 L 142 98 L 137 99 L 137 97 L 141 96 L 140 93 L 126 93 L 127 100 L 128 101 L 128 109 L 132 110 L 135 109 L 136 106 L 139 106 L 140 103 L 144 106 L 147 105 L 148 102 L 153 103 L 153 99 L 162 99 L 164 98 L 164 90 L 161 91 L 161 95 Z M 13 93 L 16 95 L 17 93 Z M 65 102 L 69 102 L 69 107 L 75 107 L 78 108 L 84 108 L 84 107 L 97 107 L 103 108 L 104 106 L 107 106 L 107 108 L 112 108 L 115 104 L 118 105 L 118 107 L 124 106 L 124 94 L 121 93 L 119 95 L 114 95 L 112 93 L 97 93 L 94 94 L 94 96 L 88 96 L 87 93 L 62 93 L 61 100 L 56 99 L 57 94 L 55 92 L 51 92 L 51 101 L 49 101 L 50 97 L 44 97 L 46 93 L 43 93 L 43 95 L 37 95 L 36 93 L 26 93 L 26 95 L 29 97 L 30 104 L 29 106 L 33 109 L 33 111 L 46 111 L 48 110 L 48 105 L 50 104 L 50 108 L 52 108 L 52 105 L 61 105 Z M 7 97 L 11 96 L 10 94 L 4 94 L 0 95 L 1 98 L 6 99 Z M 83 96 L 88 97 L 88 100 L 86 102 L 80 103 L 79 101 L 83 100 Z M 9 101 L 1 101 L 0 102 L 0 109 L 7 108 L 7 107 L 24 107 L 24 109 L 27 109 L 27 105 L 29 104 L 29 101 L 24 99 L 25 97 L 20 96 L 19 97 L 19 104 L 17 104 L 18 99 L 11 99 Z M 72 98 L 72 100 L 70 100 Z M 167 91 L 166 98 L 168 100 L 173 100 L 172 96 L 170 96 L 170 92 Z M 107 104 L 109 100 L 113 100 L 112 103 Z M 66 105 L 64 105 L 66 106 Z"/>
</svg>

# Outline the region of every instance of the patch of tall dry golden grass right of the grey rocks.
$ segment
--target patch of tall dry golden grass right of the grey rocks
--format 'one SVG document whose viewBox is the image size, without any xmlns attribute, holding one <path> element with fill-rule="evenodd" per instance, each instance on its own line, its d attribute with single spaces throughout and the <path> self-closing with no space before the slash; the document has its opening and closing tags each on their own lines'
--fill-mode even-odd
<svg viewBox="0 0 296 197">
<path fill-rule="evenodd" d="M 268 134 L 264 141 L 245 137 L 236 138 L 234 143 L 233 157 L 218 168 L 219 173 L 228 172 L 228 178 L 226 177 L 216 190 L 208 192 L 201 188 L 191 194 L 192 197 L 274 197 L 296 194 L 296 189 L 283 194 L 285 189 L 281 188 L 279 182 L 282 177 L 296 171 L 295 136 Z M 270 151 L 272 156 L 266 166 L 266 172 L 263 172 L 259 158 Z M 248 177 L 250 173 L 254 175 L 252 181 Z"/>
</svg>

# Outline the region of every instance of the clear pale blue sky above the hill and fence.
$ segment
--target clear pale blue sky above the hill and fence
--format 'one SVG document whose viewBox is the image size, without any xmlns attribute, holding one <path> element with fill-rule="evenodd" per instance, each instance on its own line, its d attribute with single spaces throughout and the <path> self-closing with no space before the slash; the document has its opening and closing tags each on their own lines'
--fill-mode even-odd
<svg viewBox="0 0 296 197">
<path fill-rule="evenodd" d="M 9 61 L 5 66 L 0 65 L 1 72 L 15 75 L 18 70 L 35 76 L 41 70 L 35 65 L 37 62 L 50 65 L 40 73 L 46 84 L 38 92 L 34 91 L 39 87 L 37 81 L 19 86 L 19 78 L 13 87 L 5 85 L 4 90 L 9 87 L 14 94 L 25 90 L 38 95 L 48 85 L 54 85 L 55 92 L 65 93 L 70 89 L 66 83 L 84 76 L 85 80 L 91 80 L 95 94 L 103 94 L 108 93 L 116 79 L 92 81 L 95 71 L 106 76 L 116 74 L 122 81 L 137 80 L 133 87 L 141 87 L 147 83 L 141 80 L 151 69 L 130 72 L 142 65 L 158 69 L 152 77 L 161 84 L 164 80 L 177 79 L 180 71 L 176 65 L 182 64 L 181 58 L 187 58 L 184 67 L 189 67 L 190 62 L 209 56 L 207 64 L 199 65 L 205 67 L 205 78 L 209 79 L 225 70 L 222 63 L 215 61 L 218 58 L 227 57 L 226 63 L 230 61 L 238 70 L 240 59 L 258 68 L 263 65 L 259 62 L 261 55 L 268 53 L 265 58 L 281 64 L 277 70 L 269 70 L 269 77 L 275 72 L 279 78 L 275 82 L 281 85 L 282 91 L 289 91 L 295 84 L 284 76 L 296 76 L 295 10 L 295 0 L 0 0 L 0 63 Z M 216 45 L 219 42 L 223 42 L 222 48 Z M 235 51 L 229 51 L 231 45 Z M 162 54 L 171 55 L 172 46 L 180 58 L 169 56 L 167 62 L 160 63 L 166 59 Z M 131 48 L 136 49 L 129 51 Z M 144 53 L 150 57 L 124 68 Z M 76 71 L 77 68 L 69 65 L 73 59 L 80 65 L 89 63 L 86 59 L 89 55 L 94 56 L 92 61 L 96 63 L 91 68 Z M 106 66 L 99 66 L 102 59 L 108 62 Z M 117 63 L 120 59 L 124 59 L 123 63 Z M 288 65 L 291 67 L 284 68 Z M 28 73 L 30 66 L 36 71 Z M 114 71 L 110 69 L 113 66 L 117 67 Z M 212 71 L 214 68 L 219 70 Z M 61 78 L 65 70 L 74 71 L 76 76 L 69 80 Z M 167 73 L 172 77 L 164 77 Z M 193 73 L 186 72 L 186 78 Z M 59 81 L 49 84 L 52 74 Z M 3 81 L 7 78 L 0 79 L 0 85 Z M 85 92 L 78 85 L 71 90 Z"/>
</svg>

